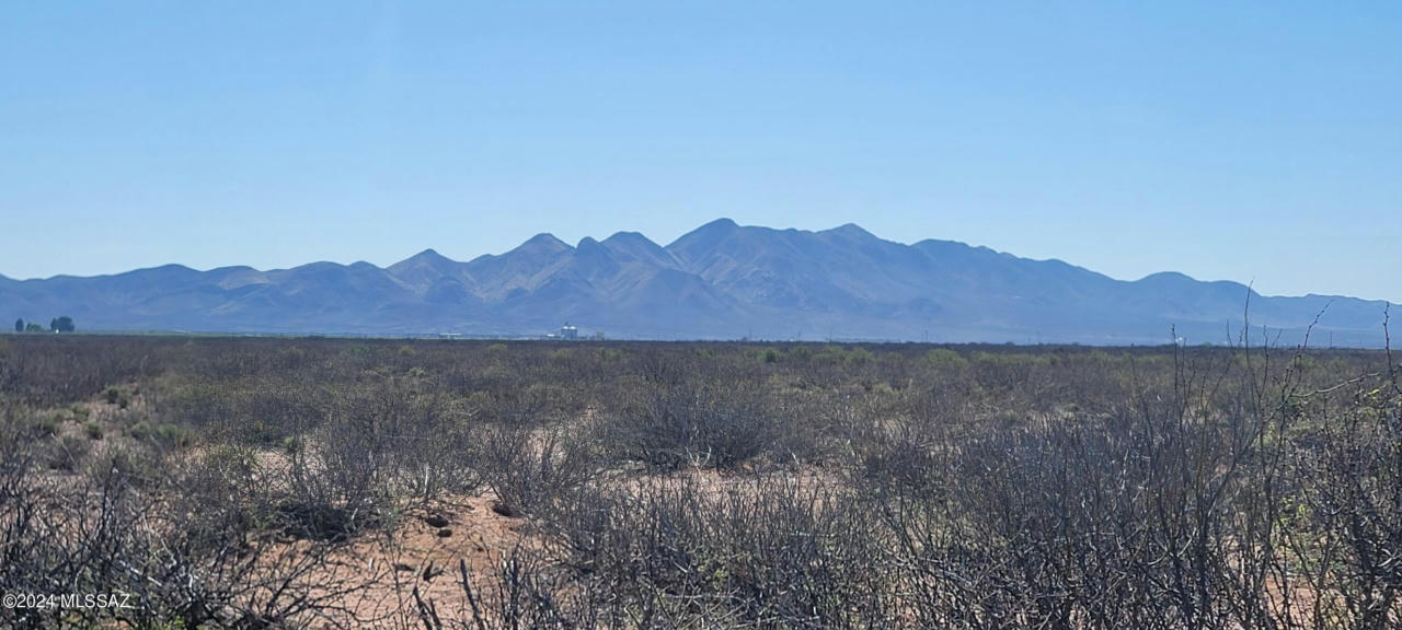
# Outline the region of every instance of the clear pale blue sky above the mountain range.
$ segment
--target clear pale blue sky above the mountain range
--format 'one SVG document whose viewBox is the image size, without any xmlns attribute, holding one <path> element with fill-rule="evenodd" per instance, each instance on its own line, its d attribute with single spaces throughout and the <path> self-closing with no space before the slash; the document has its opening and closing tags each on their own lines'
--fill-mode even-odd
<svg viewBox="0 0 1402 630">
<path fill-rule="evenodd" d="M 722 216 L 1402 301 L 1402 3 L 0 4 L 0 274 Z"/>
</svg>

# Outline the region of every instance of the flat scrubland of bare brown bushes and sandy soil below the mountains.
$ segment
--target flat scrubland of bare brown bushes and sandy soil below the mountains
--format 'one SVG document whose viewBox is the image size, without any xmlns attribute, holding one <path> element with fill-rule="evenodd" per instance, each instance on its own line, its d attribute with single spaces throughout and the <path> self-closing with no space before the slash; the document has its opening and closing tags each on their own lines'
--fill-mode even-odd
<svg viewBox="0 0 1402 630">
<path fill-rule="evenodd" d="M 1258 342 L 1258 340 L 1252 340 Z M 1402 626 L 1387 351 L 0 337 L 4 627 Z"/>
</svg>

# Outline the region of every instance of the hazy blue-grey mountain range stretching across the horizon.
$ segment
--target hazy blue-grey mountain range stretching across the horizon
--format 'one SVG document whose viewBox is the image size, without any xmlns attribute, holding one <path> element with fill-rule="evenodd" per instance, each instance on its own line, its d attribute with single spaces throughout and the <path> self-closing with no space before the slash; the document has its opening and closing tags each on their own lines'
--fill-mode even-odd
<svg viewBox="0 0 1402 630">
<path fill-rule="evenodd" d="M 1263 297 L 1157 273 L 1115 280 L 953 241 L 885 241 L 711 221 L 662 246 L 638 232 L 571 246 L 538 234 L 501 255 L 433 249 L 377 267 L 165 265 L 42 280 L 0 276 L 0 315 L 72 315 L 83 330 L 540 335 L 562 322 L 637 339 L 882 339 L 1016 343 L 1227 343 L 1249 316 L 1287 343 L 1382 343 L 1387 302 Z M 1326 308 L 1328 307 L 1328 308 Z M 1322 312 L 1322 315 L 1321 315 Z"/>
</svg>

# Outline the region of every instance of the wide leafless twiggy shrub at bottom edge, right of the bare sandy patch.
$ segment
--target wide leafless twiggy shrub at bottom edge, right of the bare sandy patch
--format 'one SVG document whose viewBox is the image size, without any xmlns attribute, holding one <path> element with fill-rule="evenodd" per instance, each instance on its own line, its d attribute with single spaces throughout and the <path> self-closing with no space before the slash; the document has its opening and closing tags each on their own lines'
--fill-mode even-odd
<svg viewBox="0 0 1402 630">
<path fill-rule="evenodd" d="M 784 477 L 592 487 L 550 521 L 565 546 L 531 559 L 548 580 L 522 584 L 522 599 L 568 603 L 562 626 L 885 627 L 889 571 L 868 517 L 836 487 Z M 484 619 L 509 615 L 486 603 Z"/>
</svg>

